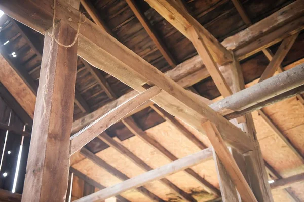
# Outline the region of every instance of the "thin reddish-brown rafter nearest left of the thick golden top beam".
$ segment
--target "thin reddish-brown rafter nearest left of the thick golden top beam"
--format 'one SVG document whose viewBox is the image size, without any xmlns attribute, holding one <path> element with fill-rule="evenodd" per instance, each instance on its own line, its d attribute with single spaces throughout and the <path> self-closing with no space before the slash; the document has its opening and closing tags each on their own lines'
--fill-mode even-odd
<svg viewBox="0 0 304 202">
<path fill-rule="evenodd" d="M 126 0 L 127 4 L 133 11 L 134 15 L 137 17 L 143 28 L 146 30 L 147 34 L 150 36 L 152 41 L 155 43 L 156 47 L 162 53 L 166 61 L 171 67 L 176 66 L 176 61 L 174 60 L 173 56 L 167 49 L 166 45 L 162 42 L 161 38 L 157 35 L 154 31 L 153 27 L 151 26 L 150 22 L 146 18 L 146 16 L 140 11 L 134 0 Z"/>
</svg>

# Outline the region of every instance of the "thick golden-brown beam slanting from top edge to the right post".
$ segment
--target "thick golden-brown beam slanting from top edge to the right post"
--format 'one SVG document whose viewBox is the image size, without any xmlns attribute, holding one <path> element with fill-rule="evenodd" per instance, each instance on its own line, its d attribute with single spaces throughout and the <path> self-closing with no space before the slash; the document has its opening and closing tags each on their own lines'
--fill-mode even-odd
<svg viewBox="0 0 304 202">
<path fill-rule="evenodd" d="M 191 36 L 191 33 L 189 33 L 188 30 L 195 29 L 197 33 L 200 33 L 200 38 L 202 41 L 204 40 L 209 51 L 211 52 L 212 57 L 218 64 L 223 65 L 226 62 L 232 61 L 231 53 L 187 12 L 181 2 L 168 0 L 145 1 L 184 36 L 192 41 L 194 45 L 197 38 Z M 195 39 L 195 41 L 193 41 L 193 39 Z"/>
</svg>

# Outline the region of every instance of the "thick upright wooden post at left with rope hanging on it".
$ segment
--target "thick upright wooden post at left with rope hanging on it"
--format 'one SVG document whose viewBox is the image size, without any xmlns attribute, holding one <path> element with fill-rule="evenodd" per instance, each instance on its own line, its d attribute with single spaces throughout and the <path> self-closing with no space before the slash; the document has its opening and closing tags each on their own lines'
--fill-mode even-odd
<svg viewBox="0 0 304 202">
<path fill-rule="evenodd" d="M 53 37 L 70 45 L 77 31 L 60 21 L 54 27 Z M 22 201 L 65 201 L 77 47 L 78 42 L 66 48 L 48 33 L 45 35 Z"/>
</svg>

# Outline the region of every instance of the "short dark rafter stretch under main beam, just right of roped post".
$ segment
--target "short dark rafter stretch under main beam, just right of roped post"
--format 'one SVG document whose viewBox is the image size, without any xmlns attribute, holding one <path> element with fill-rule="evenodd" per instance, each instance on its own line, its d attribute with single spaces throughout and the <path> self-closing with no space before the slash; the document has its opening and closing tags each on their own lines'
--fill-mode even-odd
<svg viewBox="0 0 304 202">
<path fill-rule="evenodd" d="M 92 67 L 87 61 L 80 58 L 82 63 L 85 65 L 86 69 L 92 74 L 92 76 L 97 80 L 97 83 L 100 85 L 100 87 L 104 90 L 104 92 L 107 94 L 107 96 L 110 99 L 117 99 L 117 95 L 113 92 L 112 88 L 110 87 L 109 83 L 106 81 L 106 79 L 103 77 L 103 75 L 100 73 L 100 70 Z"/>
</svg>

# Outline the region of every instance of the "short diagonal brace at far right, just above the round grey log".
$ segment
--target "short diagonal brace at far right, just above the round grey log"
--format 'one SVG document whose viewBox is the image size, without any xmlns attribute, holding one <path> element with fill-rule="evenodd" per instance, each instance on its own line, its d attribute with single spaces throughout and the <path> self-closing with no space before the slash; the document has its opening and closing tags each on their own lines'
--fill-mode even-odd
<svg viewBox="0 0 304 202">
<path fill-rule="evenodd" d="M 298 35 L 299 33 L 296 33 L 283 40 L 273 59 L 270 61 L 269 65 L 266 67 L 263 74 L 261 75 L 259 82 L 274 75 L 278 67 L 281 65 L 283 59 L 287 55 L 288 51 L 291 49 Z"/>
</svg>

